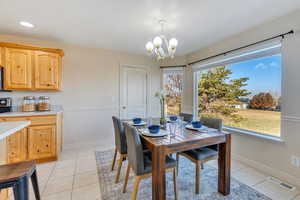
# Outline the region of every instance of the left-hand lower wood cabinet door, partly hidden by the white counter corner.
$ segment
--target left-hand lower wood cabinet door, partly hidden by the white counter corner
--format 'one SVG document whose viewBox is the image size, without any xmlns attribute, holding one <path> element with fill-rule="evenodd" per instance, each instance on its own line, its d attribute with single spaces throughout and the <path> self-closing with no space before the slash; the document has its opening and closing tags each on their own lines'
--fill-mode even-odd
<svg viewBox="0 0 300 200">
<path fill-rule="evenodd" d="M 24 128 L 7 137 L 7 162 L 27 160 L 27 129 Z"/>
</svg>

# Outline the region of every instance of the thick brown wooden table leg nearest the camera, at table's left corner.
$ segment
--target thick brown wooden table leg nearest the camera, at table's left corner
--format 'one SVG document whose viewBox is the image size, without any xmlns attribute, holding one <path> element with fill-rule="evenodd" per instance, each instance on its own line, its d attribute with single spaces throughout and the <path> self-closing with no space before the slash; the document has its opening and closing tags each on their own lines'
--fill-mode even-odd
<svg viewBox="0 0 300 200">
<path fill-rule="evenodd" d="M 152 151 L 152 199 L 166 199 L 165 147 L 157 146 Z"/>
</svg>

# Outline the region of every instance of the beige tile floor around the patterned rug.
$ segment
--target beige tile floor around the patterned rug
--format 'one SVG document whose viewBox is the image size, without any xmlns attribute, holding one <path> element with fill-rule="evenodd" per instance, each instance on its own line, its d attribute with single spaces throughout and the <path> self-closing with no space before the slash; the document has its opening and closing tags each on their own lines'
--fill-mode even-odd
<svg viewBox="0 0 300 200">
<path fill-rule="evenodd" d="M 87 145 L 69 148 L 62 152 L 57 162 L 38 165 L 37 173 L 42 199 L 101 200 L 95 150 L 104 149 L 87 147 Z M 207 164 L 217 166 L 216 161 Z M 232 176 L 273 200 L 300 200 L 299 189 L 287 191 L 269 182 L 266 174 L 235 160 L 232 161 Z M 30 200 L 35 200 L 32 188 L 30 188 Z"/>
</svg>

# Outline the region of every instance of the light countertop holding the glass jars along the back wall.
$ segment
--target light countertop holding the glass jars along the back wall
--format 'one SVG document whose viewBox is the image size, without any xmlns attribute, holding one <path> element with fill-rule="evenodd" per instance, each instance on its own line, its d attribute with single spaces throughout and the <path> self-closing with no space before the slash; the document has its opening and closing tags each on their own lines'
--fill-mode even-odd
<svg viewBox="0 0 300 200">
<path fill-rule="evenodd" d="M 13 109 L 12 112 L 0 113 L 0 117 L 22 117 L 22 116 L 41 116 L 41 115 L 56 115 L 62 112 L 62 106 L 52 106 L 50 111 L 36 112 L 21 112 Z"/>
</svg>

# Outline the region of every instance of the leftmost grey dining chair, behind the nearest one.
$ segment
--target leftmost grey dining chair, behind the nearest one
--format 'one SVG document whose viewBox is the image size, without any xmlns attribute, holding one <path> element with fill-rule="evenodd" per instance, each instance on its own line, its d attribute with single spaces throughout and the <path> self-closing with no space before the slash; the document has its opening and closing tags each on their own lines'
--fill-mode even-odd
<svg viewBox="0 0 300 200">
<path fill-rule="evenodd" d="M 121 120 L 115 116 L 112 117 L 114 130 L 115 130 L 115 154 L 114 159 L 112 162 L 111 170 L 114 170 L 115 162 L 117 159 L 117 154 L 119 153 L 119 160 L 118 160 L 118 169 L 117 175 L 115 179 L 115 183 L 119 182 L 120 172 L 122 168 L 122 163 L 127 158 L 127 143 L 126 143 L 126 136 L 123 123 Z"/>
</svg>

